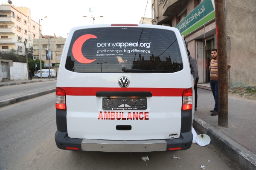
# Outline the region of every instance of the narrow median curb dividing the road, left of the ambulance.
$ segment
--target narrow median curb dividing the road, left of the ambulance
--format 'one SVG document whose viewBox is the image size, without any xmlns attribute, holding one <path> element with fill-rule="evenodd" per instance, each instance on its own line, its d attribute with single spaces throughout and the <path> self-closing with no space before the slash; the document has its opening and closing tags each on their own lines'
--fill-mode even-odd
<svg viewBox="0 0 256 170">
<path fill-rule="evenodd" d="M 32 99 L 32 98 L 35 98 L 35 97 L 38 97 L 38 96 L 43 96 L 45 94 L 53 93 L 55 91 L 56 91 L 56 88 L 52 88 L 52 89 L 47 90 L 47 91 L 41 91 L 41 92 L 37 92 L 37 93 L 33 93 L 33 94 L 28 94 L 28 95 L 12 98 L 12 99 L 6 99 L 6 100 L 3 100 L 3 101 L 0 101 L 0 108 L 2 108 L 4 106 L 7 106 L 7 105 L 15 104 L 17 102 L 22 102 L 22 101 L 27 100 L 27 99 Z"/>
</svg>

